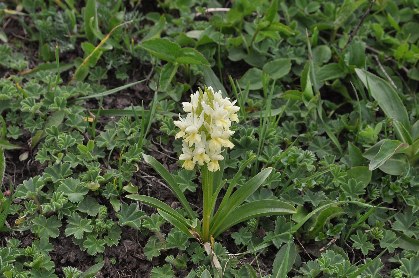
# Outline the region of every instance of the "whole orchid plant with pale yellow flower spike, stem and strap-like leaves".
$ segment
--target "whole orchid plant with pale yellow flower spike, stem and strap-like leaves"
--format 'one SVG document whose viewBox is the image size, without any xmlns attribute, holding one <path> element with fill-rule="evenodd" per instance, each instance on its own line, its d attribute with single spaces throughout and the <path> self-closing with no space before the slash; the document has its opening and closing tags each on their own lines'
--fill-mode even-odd
<svg viewBox="0 0 419 278">
<path fill-rule="evenodd" d="M 215 211 L 217 197 L 227 182 L 227 180 L 222 180 L 224 167 L 220 162 L 225 160 L 222 153 L 225 152 L 225 148 L 232 149 L 234 147 L 229 140 L 230 136 L 234 134 L 230 127 L 232 122 L 239 121 L 235 113 L 240 108 L 235 106 L 235 103 L 236 100 L 231 102 L 229 98 L 223 98 L 221 91 L 214 92 L 211 87 L 205 87 L 204 92 L 199 89 L 191 95 L 190 102 L 182 103 L 187 115 L 182 118 L 179 113 L 179 120 L 174 122 L 180 129 L 176 134 L 176 139 L 183 139 L 183 153 L 179 157 L 179 160 L 183 161 L 182 167 L 186 170 L 194 170 L 197 167 L 201 173 L 202 220 L 199 220 L 198 214 L 191 209 L 173 176 L 150 155 L 142 154 L 142 157 L 166 181 L 184 207 L 187 218 L 156 198 L 137 194 L 127 195 L 128 198 L 153 206 L 173 226 L 188 237 L 195 237 L 202 243 L 212 242 L 213 238 L 218 237 L 233 225 L 251 218 L 296 212 L 293 206 L 279 200 L 258 200 L 244 203 L 272 172 L 272 167 L 262 170 L 233 193 L 241 172 L 254 160 L 255 156 L 243 162 Z"/>
</svg>

